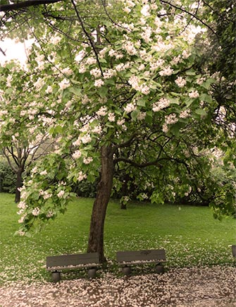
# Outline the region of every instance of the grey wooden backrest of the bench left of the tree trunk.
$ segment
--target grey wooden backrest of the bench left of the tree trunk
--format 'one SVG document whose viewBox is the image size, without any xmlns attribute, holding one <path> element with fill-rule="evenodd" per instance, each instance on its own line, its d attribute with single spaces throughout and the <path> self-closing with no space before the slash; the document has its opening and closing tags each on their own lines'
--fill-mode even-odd
<svg viewBox="0 0 236 307">
<path fill-rule="evenodd" d="M 46 257 L 46 267 L 76 267 L 99 264 L 99 253 L 68 254 Z"/>
</svg>

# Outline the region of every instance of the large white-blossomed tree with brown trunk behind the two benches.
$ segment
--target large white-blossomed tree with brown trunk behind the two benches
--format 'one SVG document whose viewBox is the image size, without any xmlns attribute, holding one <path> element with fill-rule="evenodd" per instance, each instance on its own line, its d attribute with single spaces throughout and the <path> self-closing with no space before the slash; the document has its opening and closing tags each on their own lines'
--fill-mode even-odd
<svg viewBox="0 0 236 307">
<path fill-rule="evenodd" d="M 104 260 L 106 207 L 120 171 L 143 188 L 139 199 L 151 186 L 160 203 L 209 183 L 203 150 L 224 140 L 211 122 L 217 80 L 197 69 L 192 15 L 163 3 L 63 1 L 39 14 L 28 69 L 59 148 L 24 183 L 19 234 L 65 212 L 72 183 L 99 178 L 88 252 Z"/>
</svg>

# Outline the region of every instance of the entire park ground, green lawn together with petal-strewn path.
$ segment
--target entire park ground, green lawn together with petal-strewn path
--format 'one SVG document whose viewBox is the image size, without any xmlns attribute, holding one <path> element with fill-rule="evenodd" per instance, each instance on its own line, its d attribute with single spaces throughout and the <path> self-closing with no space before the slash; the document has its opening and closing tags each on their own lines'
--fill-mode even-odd
<svg viewBox="0 0 236 307">
<path fill-rule="evenodd" d="M 47 255 L 86 251 L 92 200 L 80 198 L 66 215 L 30 238 L 13 236 L 18 215 L 13 195 L 0 194 L 1 307 L 232 307 L 236 306 L 236 267 L 230 245 L 235 220 L 213 219 L 208 207 L 130 203 L 108 206 L 105 253 L 108 265 L 96 279 L 85 272 L 62 275 L 53 284 Z M 137 267 L 123 277 L 118 250 L 165 248 L 166 272 Z"/>
</svg>

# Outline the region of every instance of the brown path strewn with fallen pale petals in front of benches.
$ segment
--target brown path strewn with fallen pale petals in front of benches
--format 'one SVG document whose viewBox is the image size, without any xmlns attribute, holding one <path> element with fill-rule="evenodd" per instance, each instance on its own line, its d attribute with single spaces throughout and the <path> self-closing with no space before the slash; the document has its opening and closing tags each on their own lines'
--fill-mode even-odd
<svg viewBox="0 0 236 307">
<path fill-rule="evenodd" d="M 232 307 L 235 267 L 170 269 L 163 275 L 20 282 L 0 287 L 1 307 Z"/>
</svg>

